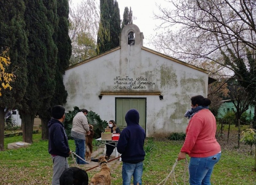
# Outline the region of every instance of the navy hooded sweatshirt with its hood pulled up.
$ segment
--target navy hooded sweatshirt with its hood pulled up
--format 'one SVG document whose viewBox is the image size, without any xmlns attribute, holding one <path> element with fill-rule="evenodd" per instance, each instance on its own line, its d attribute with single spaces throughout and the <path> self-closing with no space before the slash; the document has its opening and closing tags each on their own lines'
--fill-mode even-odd
<svg viewBox="0 0 256 185">
<path fill-rule="evenodd" d="M 122 154 L 122 161 L 127 163 L 138 163 L 144 160 L 144 142 L 146 134 L 139 125 L 139 112 L 135 109 L 129 110 L 125 115 L 127 127 L 120 134 L 117 143 L 117 151 Z"/>
</svg>

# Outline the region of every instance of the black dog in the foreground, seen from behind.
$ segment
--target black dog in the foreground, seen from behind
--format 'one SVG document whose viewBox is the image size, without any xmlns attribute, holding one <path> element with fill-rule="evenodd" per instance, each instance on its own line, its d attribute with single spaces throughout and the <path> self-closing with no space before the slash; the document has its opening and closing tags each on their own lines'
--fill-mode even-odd
<svg viewBox="0 0 256 185">
<path fill-rule="evenodd" d="M 88 185 L 88 175 L 80 168 L 70 167 L 62 173 L 60 185 Z"/>
</svg>

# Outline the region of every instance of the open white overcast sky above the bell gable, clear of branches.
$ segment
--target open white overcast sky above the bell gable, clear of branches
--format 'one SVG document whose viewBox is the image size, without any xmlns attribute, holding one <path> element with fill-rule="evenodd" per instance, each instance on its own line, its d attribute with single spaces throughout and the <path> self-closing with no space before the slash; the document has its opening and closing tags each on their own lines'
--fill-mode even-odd
<svg viewBox="0 0 256 185">
<path fill-rule="evenodd" d="M 79 3 L 81 0 L 72 0 L 72 3 Z M 95 0 L 99 5 L 99 0 Z M 154 19 L 154 14 L 158 14 L 159 10 L 156 4 L 163 7 L 170 6 L 165 0 L 117 0 L 120 9 L 120 18 L 123 19 L 124 8 L 132 9 L 133 24 L 136 24 L 144 35 L 144 46 L 154 50 L 154 47 L 149 44 L 152 37 L 155 35 L 154 29 L 161 24 L 160 20 Z"/>
</svg>

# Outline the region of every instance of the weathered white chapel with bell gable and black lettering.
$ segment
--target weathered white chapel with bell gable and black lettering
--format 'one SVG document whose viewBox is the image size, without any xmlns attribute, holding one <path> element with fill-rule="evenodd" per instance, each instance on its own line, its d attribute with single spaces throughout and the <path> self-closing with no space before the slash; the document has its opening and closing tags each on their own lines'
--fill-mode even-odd
<svg viewBox="0 0 256 185">
<path fill-rule="evenodd" d="M 96 112 L 126 127 L 125 114 L 136 109 L 147 137 L 185 132 L 190 98 L 207 96 L 208 71 L 143 46 L 134 24 L 122 29 L 120 46 L 70 66 L 63 81 L 66 111 L 74 106 Z"/>
</svg>

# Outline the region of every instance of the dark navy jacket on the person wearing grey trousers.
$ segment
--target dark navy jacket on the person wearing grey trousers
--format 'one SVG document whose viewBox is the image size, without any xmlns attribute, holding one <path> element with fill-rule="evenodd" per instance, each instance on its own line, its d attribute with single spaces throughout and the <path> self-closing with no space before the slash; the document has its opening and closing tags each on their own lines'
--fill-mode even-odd
<svg viewBox="0 0 256 185">
<path fill-rule="evenodd" d="M 49 154 L 58 155 L 62 157 L 69 157 L 69 143 L 63 124 L 58 120 L 52 118 L 49 123 Z"/>
</svg>

